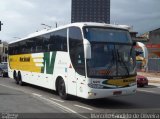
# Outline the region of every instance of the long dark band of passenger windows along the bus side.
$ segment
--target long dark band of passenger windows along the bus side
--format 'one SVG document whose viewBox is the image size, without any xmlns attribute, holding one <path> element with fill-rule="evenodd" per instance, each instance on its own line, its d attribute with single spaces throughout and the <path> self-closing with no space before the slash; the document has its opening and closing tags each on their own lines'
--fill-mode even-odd
<svg viewBox="0 0 160 119">
<path fill-rule="evenodd" d="M 67 51 L 67 29 L 33 37 L 9 45 L 9 54 Z"/>
</svg>

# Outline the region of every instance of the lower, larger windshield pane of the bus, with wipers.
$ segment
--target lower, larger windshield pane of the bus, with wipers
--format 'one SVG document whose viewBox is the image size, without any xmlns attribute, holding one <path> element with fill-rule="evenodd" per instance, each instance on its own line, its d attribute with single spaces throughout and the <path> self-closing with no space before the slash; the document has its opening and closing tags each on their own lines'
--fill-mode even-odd
<svg viewBox="0 0 160 119">
<path fill-rule="evenodd" d="M 132 46 L 92 43 L 91 59 L 87 60 L 89 77 L 135 75 L 135 52 Z"/>
</svg>

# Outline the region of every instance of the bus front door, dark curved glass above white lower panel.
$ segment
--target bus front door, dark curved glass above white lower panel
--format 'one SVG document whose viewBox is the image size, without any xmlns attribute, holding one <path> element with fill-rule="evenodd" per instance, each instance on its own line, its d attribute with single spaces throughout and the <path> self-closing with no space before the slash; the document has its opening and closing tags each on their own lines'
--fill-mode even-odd
<svg viewBox="0 0 160 119">
<path fill-rule="evenodd" d="M 79 90 L 79 84 L 85 76 L 85 60 L 83 45 L 77 45 L 77 47 L 70 53 L 71 62 L 68 68 L 68 92 L 73 95 L 77 95 L 77 89 Z"/>
</svg>

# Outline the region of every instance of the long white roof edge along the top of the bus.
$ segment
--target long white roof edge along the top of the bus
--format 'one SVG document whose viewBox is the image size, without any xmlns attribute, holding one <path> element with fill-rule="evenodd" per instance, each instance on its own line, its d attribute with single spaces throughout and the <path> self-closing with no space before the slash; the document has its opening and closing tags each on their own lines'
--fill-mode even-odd
<svg viewBox="0 0 160 119">
<path fill-rule="evenodd" d="M 124 25 L 114 25 L 114 24 L 95 23 L 95 22 L 78 22 L 78 23 L 71 23 L 71 24 L 68 24 L 68 25 L 60 26 L 58 28 L 53 28 L 53 29 L 49 29 L 49 30 L 48 29 L 43 29 L 41 31 L 29 34 L 27 37 L 18 39 L 16 41 L 11 41 L 9 44 L 16 43 L 16 42 L 19 42 L 19 41 L 23 41 L 23 40 L 33 38 L 33 37 L 36 37 L 36 36 L 44 35 L 44 34 L 47 34 L 47 33 L 51 33 L 53 31 L 61 30 L 61 29 L 68 28 L 68 27 L 71 27 L 71 26 L 77 26 L 77 27 L 80 27 L 80 28 L 82 28 L 83 26 L 95 26 L 95 27 L 109 27 L 109 28 L 118 28 L 118 29 L 128 30 L 128 28 L 123 27 Z"/>
</svg>

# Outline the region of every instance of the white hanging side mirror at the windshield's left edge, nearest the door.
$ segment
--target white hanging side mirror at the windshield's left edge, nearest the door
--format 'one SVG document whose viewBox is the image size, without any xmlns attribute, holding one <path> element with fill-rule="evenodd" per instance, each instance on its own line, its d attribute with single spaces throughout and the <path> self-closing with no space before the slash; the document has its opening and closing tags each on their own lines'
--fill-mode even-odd
<svg viewBox="0 0 160 119">
<path fill-rule="evenodd" d="M 91 44 L 87 39 L 84 39 L 84 55 L 86 59 L 91 59 Z"/>
</svg>

